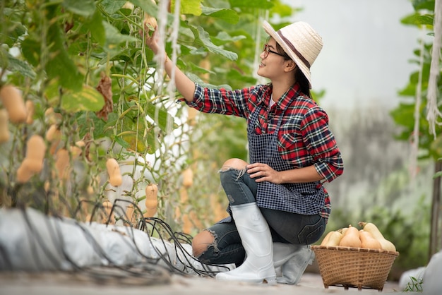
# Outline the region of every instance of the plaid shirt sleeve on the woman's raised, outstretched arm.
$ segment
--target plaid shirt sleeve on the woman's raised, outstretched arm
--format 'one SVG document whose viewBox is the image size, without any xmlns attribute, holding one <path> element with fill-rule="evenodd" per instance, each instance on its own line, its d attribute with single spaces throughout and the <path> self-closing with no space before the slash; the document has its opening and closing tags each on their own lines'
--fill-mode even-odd
<svg viewBox="0 0 442 295">
<path fill-rule="evenodd" d="M 248 116 L 247 102 L 252 88 L 242 90 L 226 90 L 224 88 L 203 88 L 195 84 L 193 101 L 186 102 L 189 107 L 210 114 L 234 115 L 246 118 Z"/>
</svg>

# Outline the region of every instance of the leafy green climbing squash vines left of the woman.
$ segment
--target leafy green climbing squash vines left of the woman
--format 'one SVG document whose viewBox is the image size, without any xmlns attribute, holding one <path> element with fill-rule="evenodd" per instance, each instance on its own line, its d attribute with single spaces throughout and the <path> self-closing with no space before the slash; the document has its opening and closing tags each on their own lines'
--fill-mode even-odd
<svg viewBox="0 0 442 295">
<path fill-rule="evenodd" d="M 236 128 L 243 123 L 234 118 L 195 116 L 176 103 L 179 93 L 167 92 L 169 81 L 158 75 L 141 37 L 148 30 L 145 16 L 156 18 L 160 4 L 1 2 L 0 87 L 13 85 L 33 107 L 32 122 L 8 121 L 10 136 L 0 143 L 1 207 L 26 205 L 86 220 L 90 205 L 107 199 L 142 204 L 143 188 L 155 183 L 158 217 L 177 229 L 187 223 L 188 231 L 214 221 L 195 214 L 222 203 L 207 171 L 216 171 L 220 153 L 246 158 L 245 128 Z M 171 1 L 165 14 L 167 36 L 174 32 L 174 5 Z M 176 44 L 166 38 L 166 51 L 172 56 L 176 46 L 177 65 L 196 82 L 227 88 L 256 82 L 256 28 L 265 11 L 280 16 L 275 25 L 293 13 L 280 1 L 267 0 L 181 0 L 179 5 Z M 157 87 L 158 81 L 165 87 Z M 220 138 L 219 129 L 227 126 Z M 56 136 L 48 137 L 49 130 Z M 20 182 L 17 170 L 32 135 L 44 138 L 44 167 Z M 109 158 L 119 163 L 121 186 L 109 184 Z M 182 173 L 189 168 L 193 184 L 185 187 Z"/>
</svg>

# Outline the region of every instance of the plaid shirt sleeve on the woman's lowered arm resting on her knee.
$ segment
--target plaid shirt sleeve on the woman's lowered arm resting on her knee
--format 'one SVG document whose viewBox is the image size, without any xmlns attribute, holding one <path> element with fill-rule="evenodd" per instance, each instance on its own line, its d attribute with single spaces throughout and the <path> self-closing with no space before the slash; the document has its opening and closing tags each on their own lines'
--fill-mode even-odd
<svg viewBox="0 0 442 295">
<path fill-rule="evenodd" d="M 318 174 L 328 182 L 340 176 L 344 172 L 341 153 L 328 128 L 328 115 L 321 107 L 314 107 L 306 113 L 301 132 Z"/>
</svg>

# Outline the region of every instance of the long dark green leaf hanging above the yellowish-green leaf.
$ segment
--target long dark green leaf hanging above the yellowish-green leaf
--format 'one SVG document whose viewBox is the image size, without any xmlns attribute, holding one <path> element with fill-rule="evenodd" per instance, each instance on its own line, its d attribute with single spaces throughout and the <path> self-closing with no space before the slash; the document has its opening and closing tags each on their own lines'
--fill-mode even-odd
<svg viewBox="0 0 442 295">
<path fill-rule="evenodd" d="M 83 75 L 78 71 L 76 64 L 73 63 L 71 56 L 64 48 L 64 39 L 58 24 L 53 24 L 48 30 L 48 44 L 50 47 L 46 71 L 50 79 L 58 79 L 62 87 L 79 91 L 83 84 Z"/>
</svg>

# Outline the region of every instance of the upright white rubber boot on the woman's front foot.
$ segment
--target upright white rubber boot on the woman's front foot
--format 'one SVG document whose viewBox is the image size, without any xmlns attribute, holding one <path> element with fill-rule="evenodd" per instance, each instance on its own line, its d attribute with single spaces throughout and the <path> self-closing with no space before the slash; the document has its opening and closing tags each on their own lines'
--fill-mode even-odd
<svg viewBox="0 0 442 295">
<path fill-rule="evenodd" d="M 218 273 L 216 279 L 276 284 L 272 235 L 261 211 L 256 203 L 233 205 L 231 209 L 246 260 L 234 270 Z"/>
</svg>

